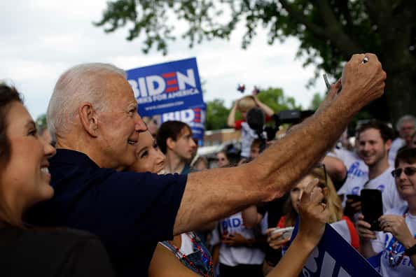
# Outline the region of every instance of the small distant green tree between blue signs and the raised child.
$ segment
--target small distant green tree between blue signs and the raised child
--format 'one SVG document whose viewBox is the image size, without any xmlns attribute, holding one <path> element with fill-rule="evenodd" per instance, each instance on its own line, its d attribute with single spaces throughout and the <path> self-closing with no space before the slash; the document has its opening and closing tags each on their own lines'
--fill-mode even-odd
<svg viewBox="0 0 416 277">
<path fill-rule="evenodd" d="M 205 129 L 218 130 L 227 127 L 227 117 L 230 109 L 224 106 L 224 101 L 214 99 L 207 102 L 207 119 L 205 121 Z"/>
</svg>

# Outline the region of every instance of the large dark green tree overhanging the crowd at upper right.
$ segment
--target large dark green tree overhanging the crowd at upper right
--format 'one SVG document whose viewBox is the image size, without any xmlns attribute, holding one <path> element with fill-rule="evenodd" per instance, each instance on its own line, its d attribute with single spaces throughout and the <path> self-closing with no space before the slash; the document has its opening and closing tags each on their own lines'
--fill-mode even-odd
<svg viewBox="0 0 416 277">
<path fill-rule="evenodd" d="M 176 17 L 176 18 L 175 18 Z M 95 23 L 106 32 L 130 26 L 128 40 L 144 36 L 144 52 L 167 52 L 174 24 L 188 24 L 190 46 L 204 39 L 230 38 L 245 24 L 245 48 L 256 28 L 268 29 L 268 43 L 300 40 L 298 56 L 340 76 L 342 62 L 357 52 L 374 52 L 387 71 L 386 96 L 370 105 L 380 119 L 416 114 L 416 1 L 413 0 L 117 0 Z M 387 113 L 387 108 L 389 113 Z"/>
</svg>

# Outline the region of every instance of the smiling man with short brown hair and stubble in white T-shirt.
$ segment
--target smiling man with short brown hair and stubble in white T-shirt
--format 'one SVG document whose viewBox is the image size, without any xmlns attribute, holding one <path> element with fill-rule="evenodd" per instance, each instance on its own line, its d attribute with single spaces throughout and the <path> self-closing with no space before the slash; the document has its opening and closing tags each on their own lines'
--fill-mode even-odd
<svg viewBox="0 0 416 277">
<path fill-rule="evenodd" d="M 382 191 L 384 211 L 405 204 L 398 195 L 391 176 L 393 168 L 389 166 L 387 159 L 392 137 L 393 130 L 377 120 L 370 120 L 357 129 L 357 154 L 368 166 L 368 178 L 357 178 L 343 188 L 347 198 L 350 198 L 345 206 L 345 214 L 349 217 L 354 218 L 352 215 L 361 211 L 361 202 L 348 195 L 359 195 L 364 188 Z"/>
</svg>

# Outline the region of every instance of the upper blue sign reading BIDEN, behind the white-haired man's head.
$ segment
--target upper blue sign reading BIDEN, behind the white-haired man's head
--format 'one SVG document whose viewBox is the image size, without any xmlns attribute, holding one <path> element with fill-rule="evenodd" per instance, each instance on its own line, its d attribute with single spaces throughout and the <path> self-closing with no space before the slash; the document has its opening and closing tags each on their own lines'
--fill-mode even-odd
<svg viewBox="0 0 416 277">
<path fill-rule="evenodd" d="M 195 58 L 127 70 L 141 116 L 204 105 Z"/>
</svg>

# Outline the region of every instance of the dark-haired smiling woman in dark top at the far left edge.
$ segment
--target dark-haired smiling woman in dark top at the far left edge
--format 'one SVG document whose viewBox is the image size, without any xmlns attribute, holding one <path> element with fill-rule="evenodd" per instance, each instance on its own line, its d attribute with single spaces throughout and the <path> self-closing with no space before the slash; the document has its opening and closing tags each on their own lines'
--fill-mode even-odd
<svg viewBox="0 0 416 277">
<path fill-rule="evenodd" d="M 2 276 L 113 276 L 99 240 L 69 229 L 36 229 L 22 216 L 53 197 L 48 158 L 15 88 L 0 83 L 0 267 Z"/>
</svg>

